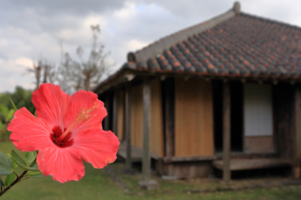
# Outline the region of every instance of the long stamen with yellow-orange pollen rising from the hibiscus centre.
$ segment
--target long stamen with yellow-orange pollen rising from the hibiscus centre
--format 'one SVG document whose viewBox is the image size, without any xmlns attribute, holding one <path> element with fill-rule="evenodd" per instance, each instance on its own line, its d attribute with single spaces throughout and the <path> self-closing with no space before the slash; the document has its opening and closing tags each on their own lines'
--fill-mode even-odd
<svg viewBox="0 0 301 200">
<path fill-rule="evenodd" d="M 82 121 L 82 123 L 88 121 L 89 119 L 91 119 L 92 115 L 90 115 L 89 113 L 91 111 L 94 110 L 100 110 L 100 104 L 93 102 L 93 106 L 92 108 L 90 108 L 89 110 L 85 111 L 86 108 L 81 108 L 79 110 L 79 113 L 76 116 L 76 120 L 73 122 L 73 124 L 71 124 L 71 126 L 63 133 L 63 135 L 61 135 L 59 138 L 57 138 L 57 140 L 55 141 L 57 144 L 61 144 L 62 140 L 66 137 L 66 135 L 70 132 L 70 130 L 79 122 Z"/>
</svg>

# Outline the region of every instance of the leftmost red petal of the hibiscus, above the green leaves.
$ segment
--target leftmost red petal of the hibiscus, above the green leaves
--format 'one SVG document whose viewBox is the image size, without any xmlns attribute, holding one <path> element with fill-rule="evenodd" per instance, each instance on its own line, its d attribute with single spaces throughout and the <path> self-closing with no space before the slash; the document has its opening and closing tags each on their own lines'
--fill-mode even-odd
<svg viewBox="0 0 301 200">
<path fill-rule="evenodd" d="M 11 141 L 21 151 L 41 150 L 53 144 L 51 130 L 24 107 L 15 112 L 7 129 L 12 132 Z"/>
</svg>

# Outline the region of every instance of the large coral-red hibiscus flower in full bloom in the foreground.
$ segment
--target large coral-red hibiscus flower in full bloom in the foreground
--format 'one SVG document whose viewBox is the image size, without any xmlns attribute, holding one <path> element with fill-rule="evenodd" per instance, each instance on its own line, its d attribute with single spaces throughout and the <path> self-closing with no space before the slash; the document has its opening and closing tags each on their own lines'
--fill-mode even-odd
<svg viewBox="0 0 301 200">
<path fill-rule="evenodd" d="M 37 117 L 20 108 L 8 130 L 17 149 L 39 150 L 36 161 L 42 174 L 64 183 L 84 176 L 82 159 L 94 168 L 116 160 L 119 141 L 102 130 L 107 111 L 95 93 L 80 90 L 70 96 L 60 86 L 44 83 L 33 92 L 32 102 Z"/>
</svg>

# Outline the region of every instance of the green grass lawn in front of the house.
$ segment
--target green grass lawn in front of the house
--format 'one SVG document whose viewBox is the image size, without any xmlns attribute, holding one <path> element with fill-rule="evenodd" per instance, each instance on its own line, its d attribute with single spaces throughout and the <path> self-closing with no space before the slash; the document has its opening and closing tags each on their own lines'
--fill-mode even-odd
<svg viewBox="0 0 301 200">
<path fill-rule="evenodd" d="M 11 142 L 0 143 L 0 151 L 9 153 L 10 149 L 15 147 Z M 19 155 L 25 155 L 17 151 Z M 213 193 L 191 193 L 188 189 L 201 189 L 208 187 L 219 187 L 223 184 L 219 179 L 194 179 L 164 181 L 160 177 L 154 176 L 159 183 L 160 189 L 156 191 L 145 191 L 138 187 L 138 180 L 141 174 L 135 175 L 121 174 L 122 163 L 113 163 L 108 165 L 120 179 L 126 183 L 129 193 L 113 181 L 106 169 L 94 169 L 91 164 L 85 163 L 85 176 L 79 181 L 70 183 L 59 183 L 52 180 L 52 177 L 28 178 L 17 183 L 1 199 L 18 200 L 56 200 L 56 199 L 247 199 L 247 200 L 300 200 L 301 186 L 284 186 L 270 189 L 246 189 L 240 191 L 213 192 Z M 22 170 L 19 168 L 18 174 Z M 245 180 L 234 181 L 233 184 L 242 184 Z M 262 181 L 262 180 L 248 180 Z"/>
</svg>

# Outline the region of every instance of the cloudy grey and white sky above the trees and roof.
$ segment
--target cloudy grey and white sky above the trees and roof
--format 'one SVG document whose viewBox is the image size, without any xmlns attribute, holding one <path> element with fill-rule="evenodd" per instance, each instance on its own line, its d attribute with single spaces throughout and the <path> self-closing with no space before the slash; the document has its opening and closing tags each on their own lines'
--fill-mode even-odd
<svg viewBox="0 0 301 200">
<path fill-rule="evenodd" d="M 60 42 L 76 59 L 80 45 L 88 54 L 90 25 L 100 24 L 99 41 L 116 62 L 129 51 L 203 22 L 232 8 L 233 0 L 0 0 L 0 92 L 34 88 L 26 68 L 40 58 L 58 65 Z M 245 13 L 301 27 L 301 1 L 240 0 Z M 87 55 L 86 54 L 86 55 Z"/>
</svg>

